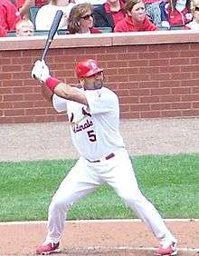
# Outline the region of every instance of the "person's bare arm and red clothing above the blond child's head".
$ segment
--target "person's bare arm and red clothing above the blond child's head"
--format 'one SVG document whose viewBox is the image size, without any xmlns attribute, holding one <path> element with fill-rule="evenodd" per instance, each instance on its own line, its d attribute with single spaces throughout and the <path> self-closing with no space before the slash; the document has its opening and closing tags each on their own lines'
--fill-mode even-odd
<svg viewBox="0 0 199 256">
<path fill-rule="evenodd" d="M 32 6 L 42 7 L 47 5 L 49 0 L 18 0 L 18 9 L 22 17 L 29 18 L 29 9 Z"/>
</svg>

